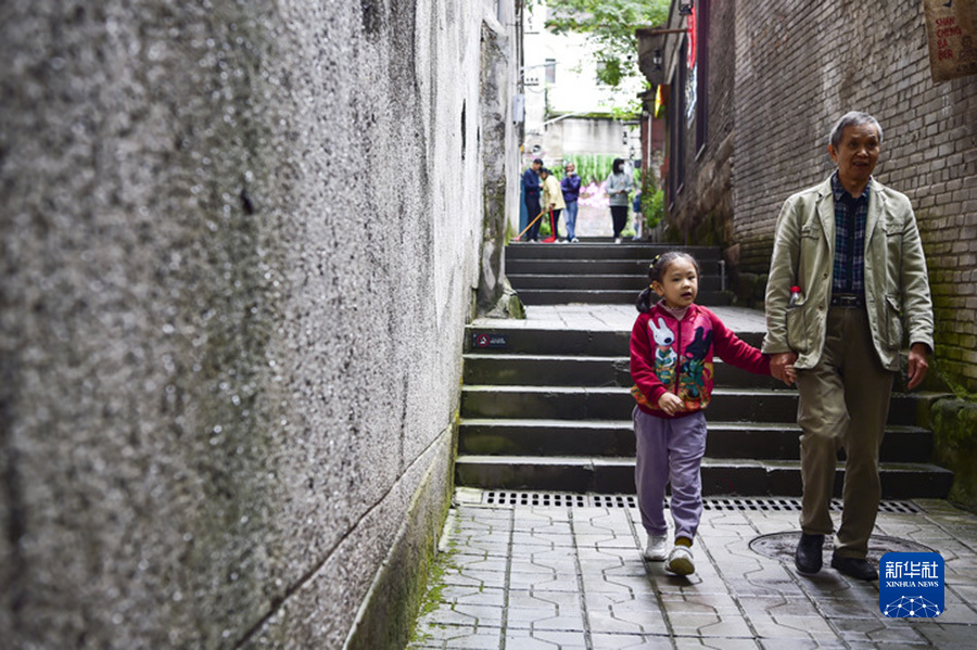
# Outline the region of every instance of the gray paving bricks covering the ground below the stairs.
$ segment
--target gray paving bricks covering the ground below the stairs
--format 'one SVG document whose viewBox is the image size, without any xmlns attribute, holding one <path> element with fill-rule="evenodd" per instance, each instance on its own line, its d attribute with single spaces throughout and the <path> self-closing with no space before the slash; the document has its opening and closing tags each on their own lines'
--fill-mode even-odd
<svg viewBox="0 0 977 650">
<path fill-rule="evenodd" d="M 946 501 L 879 514 L 876 534 L 926 545 L 946 560 L 946 612 L 909 620 L 880 614 L 877 583 L 827 566 L 804 577 L 789 553 L 771 559 L 750 548 L 757 536 L 796 532 L 796 511 L 707 509 L 697 570 L 686 578 L 642 559 L 633 501 L 483 499 L 482 490 L 456 492 L 437 560 L 443 574 L 411 650 L 974 647 L 977 517 Z"/>
</svg>

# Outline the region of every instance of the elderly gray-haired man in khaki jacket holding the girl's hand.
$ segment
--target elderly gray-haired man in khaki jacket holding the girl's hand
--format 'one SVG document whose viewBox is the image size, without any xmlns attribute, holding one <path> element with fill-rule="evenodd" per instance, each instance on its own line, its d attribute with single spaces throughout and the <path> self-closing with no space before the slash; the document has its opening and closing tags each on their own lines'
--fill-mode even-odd
<svg viewBox="0 0 977 650">
<path fill-rule="evenodd" d="M 832 566 L 864 581 L 878 579 L 866 553 L 899 354 L 908 334 L 908 385 L 914 388 L 932 351 L 932 304 L 913 208 L 872 177 L 881 140 L 874 117 L 846 114 L 827 148 L 838 168 L 784 203 L 763 342 L 775 377 L 797 371 L 803 479 L 797 569 L 821 570 L 824 536 L 833 532 L 836 455 L 843 447 L 843 511 Z"/>
</svg>

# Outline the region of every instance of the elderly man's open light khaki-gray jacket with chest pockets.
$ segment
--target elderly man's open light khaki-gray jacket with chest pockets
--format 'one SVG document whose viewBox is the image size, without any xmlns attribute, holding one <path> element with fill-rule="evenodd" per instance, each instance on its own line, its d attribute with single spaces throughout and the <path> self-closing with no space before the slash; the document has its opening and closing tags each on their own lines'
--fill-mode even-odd
<svg viewBox="0 0 977 650">
<path fill-rule="evenodd" d="M 871 179 L 865 221 L 865 308 L 878 358 L 899 369 L 905 342 L 932 345 L 932 301 L 916 217 L 905 194 Z M 763 352 L 796 352 L 813 368 L 824 347 L 835 259 L 830 178 L 794 194 L 781 208 L 766 284 Z M 790 288 L 800 299 L 789 306 Z"/>
</svg>

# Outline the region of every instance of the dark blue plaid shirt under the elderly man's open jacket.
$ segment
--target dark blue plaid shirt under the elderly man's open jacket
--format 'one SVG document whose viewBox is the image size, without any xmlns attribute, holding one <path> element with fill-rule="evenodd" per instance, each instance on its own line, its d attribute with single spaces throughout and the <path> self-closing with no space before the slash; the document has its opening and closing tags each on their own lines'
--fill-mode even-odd
<svg viewBox="0 0 977 650">
<path fill-rule="evenodd" d="M 841 187 L 838 173 L 832 175 L 835 195 L 835 278 L 834 293 L 865 291 L 865 221 L 868 218 L 868 188 L 858 199 Z"/>
</svg>

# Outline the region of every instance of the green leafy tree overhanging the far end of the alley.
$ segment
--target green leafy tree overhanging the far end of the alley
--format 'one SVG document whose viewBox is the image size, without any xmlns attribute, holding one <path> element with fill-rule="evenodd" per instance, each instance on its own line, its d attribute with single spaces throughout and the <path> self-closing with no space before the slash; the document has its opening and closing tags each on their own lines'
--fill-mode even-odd
<svg viewBox="0 0 977 650">
<path fill-rule="evenodd" d="M 638 76 L 637 27 L 661 25 L 671 0 L 547 0 L 546 26 L 554 34 L 586 34 L 597 46 L 597 77 L 617 87 Z"/>
</svg>

